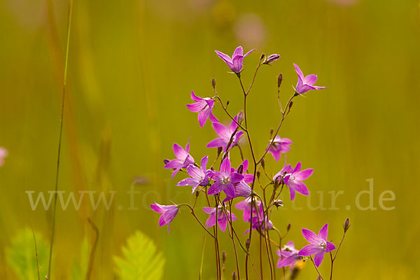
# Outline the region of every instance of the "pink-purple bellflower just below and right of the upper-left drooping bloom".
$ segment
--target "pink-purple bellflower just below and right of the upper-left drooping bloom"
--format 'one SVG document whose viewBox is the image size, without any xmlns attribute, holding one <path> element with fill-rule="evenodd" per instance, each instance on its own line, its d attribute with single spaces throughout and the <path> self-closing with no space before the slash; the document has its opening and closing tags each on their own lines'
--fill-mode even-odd
<svg viewBox="0 0 420 280">
<path fill-rule="evenodd" d="M 235 116 L 234 119 L 238 120 L 238 116 Z M 218 134 L 219 138 L 211 140 L 209 144 L 207 144 L 207 148 L 223 147 L 223 151 L 226 151 L 228 148 L 234 147 L 238 143 L 239 138 L 241 138 L 242 134 L 244 134 L 244 132 L 241 131 L 235 133 L 237 126 L 237 123 L 235 123 L 235 121 L 233 120 L 232 123 L 230 123 L 229 128 L 225 127 L 221 123 L 213 123 L 213 128 Z M 234 133 L 235 135 L 233 136 L 232 143 L 228 147 L 230 137 L 232 137 Z"/>
</svg>

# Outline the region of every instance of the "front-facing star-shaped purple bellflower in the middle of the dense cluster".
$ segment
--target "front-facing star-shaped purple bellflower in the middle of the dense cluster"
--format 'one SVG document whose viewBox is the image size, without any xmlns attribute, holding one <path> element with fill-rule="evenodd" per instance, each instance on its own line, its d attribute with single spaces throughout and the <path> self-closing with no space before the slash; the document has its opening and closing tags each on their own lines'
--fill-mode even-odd
<svg viewBox="0 0 420 280">
<path fill-rule="evenodd" d="M 228 197 L 235 197 L 235 187 L 233 184 L 239 183 L 244 179 L 244 175 L 232 172 L 229 158 L 223 160 L 220 172 L 213 171 L 209 173 L 209 176 L 215 182 L 211 185 L 207 194 L 216 195 L 216 193 L 221 193 L 223 190 Z"/>
</svg>

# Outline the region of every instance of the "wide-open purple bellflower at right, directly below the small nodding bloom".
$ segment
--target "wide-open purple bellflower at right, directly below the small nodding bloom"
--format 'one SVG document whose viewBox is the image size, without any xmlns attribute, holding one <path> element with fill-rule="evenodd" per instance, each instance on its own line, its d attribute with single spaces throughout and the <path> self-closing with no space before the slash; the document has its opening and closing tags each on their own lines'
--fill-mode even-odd
<svg viewBox="0 0 420 280">
<path fill-rule="evenodd" d="M 304 169 L 300 171 L 300 162 L 298 162 L 295 169 L 290 165 L 283 167 L 283 169 L 274 176 L 274 179 L 279 176 L 283 177 L 283 181 L 290 191 L 290 200 L 294 200 L 295 192 L 300 193 L 301 195 L 309 195 L 309 190 L 302 181 L 311 176 L 313 172 L 314 169 Z"/>
</svg>

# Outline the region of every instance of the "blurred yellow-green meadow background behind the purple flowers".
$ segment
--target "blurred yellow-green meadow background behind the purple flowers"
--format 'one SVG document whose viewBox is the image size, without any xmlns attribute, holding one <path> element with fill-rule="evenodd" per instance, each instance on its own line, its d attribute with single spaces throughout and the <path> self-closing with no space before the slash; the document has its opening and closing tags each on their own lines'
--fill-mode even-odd
<svg viewBox="0 0 420 280">
<path fill-rule="evenodd" d="M 5 251 L 18 232 L 33 226 L 38 238 L 50 239 L 52 211 L 32 211 L 25 191 L 46 194 L 55 186 L 67 9 L 62 0 L 0 3 L 0 146 L 9 151 L 0 168 L 2 279 L 15 277 Z M 185 146 L 190 137 L 196 160 L 207 154 L 214 159 L 216 151 L 204 148 L 214 130 L 209 123 L 200 128 L 185 104 L 191 90 L 212 96 L 215 78 L 230 111 L 241 109 L 237 78 L 214 53 L 231 55 L 237 45 L 258 49 L 246 57 L 246 85 L 261 52 L 281 55 L 262 67 L 249 97 L 249 130 L 258 155 L 279 121 L 279 73 L 284 102 L 297 80 L 293 62 L 304 74 L 316 73 L 317 85 L 328 86 L 296 100 L 280 135 L 293 140 L 291 164 L 314 168 L 306 181 L 311 205 L 317 191 L 323 191 L 325 207 L 328 191 L 344 195 L 337 198 L 339 210 L 324 211 L 309 209 L 307 198 L 297 195 L 302 209 L 293 211 L 286 192 L 286 209 L 272 218 L 280 229 L 292 224 L 286 241 L 304 246 L 301 228 L 318 231 L 329 223 L 329 238 L 338 243 L 342 223 L 350 218 L 336 279 L 419 279 L 419 15 L 417 0 L 74 0 L 59 190 L 118 193 L 109 211 L 94 211 L 89 200 L 79 211 L 57 208 L 52 279 L 67 279 L 84 237 L 92 248 L 95 234 L 87 218 L 99 228 L 93 279 L 114 279 L 113 255 L 121 255 L 120 246 L 135 230 L 152 237 L 165 255 L 165 279 L 197 279 L 202 230 L 181 210 L 167 236 L 148 205 L 193 201 L 190 188 L 175 187 L 183 174 L 171 180 L 162 160 L 174 157 L 174 142 Z M 228 121 L 220 106 L 215 112 Z M 278 172 L 283 159 L 268 158 L 269 173 Z M 369 189 L 367 179 L 374 179 L 376 211 L 355 207 L 356 195 Z M 134 181 L 141 194 L 134 197 L 138 209 L 130 211 L 126 192 Z M 395 201 L 385 202 L 395 207 L 391 211 L 379 208 L 384 190 L 395 193 Z M 366 195 L 362 204 L 368 203 Z M 236 223 L 238 232 L 246 230 Z M 230 275 L 235 258 L 227 236 L 222 245 Z M 251 248 L 256 260 L 257 239 Z M 328 269 L 325 258 L 321 272 Z M 267 265 L 266 270 L 265 275 Z M 209 239 L 203 277 L 215 277 Z M 315 279 L 314 268 L 307 265 L 301 278 Z"/>
</svg>

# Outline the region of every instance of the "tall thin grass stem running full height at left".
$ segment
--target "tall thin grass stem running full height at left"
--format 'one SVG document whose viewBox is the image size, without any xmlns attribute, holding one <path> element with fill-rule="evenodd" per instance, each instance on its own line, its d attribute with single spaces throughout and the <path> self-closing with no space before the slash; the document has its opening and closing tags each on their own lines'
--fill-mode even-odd
<svg viewBox="0 0 420 280">
<path fill-rule="evenodd" d="M 54 209 L 52 211 L 52 228 L 50 240 L 50 255 L 48 258 L 48 280 L 51 280 L 51 261 L 52 261 L 52 246 L 54 244 L 55 235 L 55 214 L 57 210 L 57 190 L 58 190 L 58 177 L 59 177 L 59 160 L 62 147 L 62 132 L 63 132 L 63 118 L 64 118 L 64 100 L 66 97 L 66 81 L 67 81 L 67 65 L 69 61 L 69 43 L 70 43 L 70 30 L 71 30 L 71 14 L 73 11 L 73 0 L 69 1 L 69 17 L 67 19 L 67 39 L 66 39 L 66 55 L 64 62 L 64 80 L 63 80 L 63 94 L 62 94 L 62 112 L 59 121 L 59 139 L 58 139 L 58 152 L 57 152 L 57 172 L 55 174 L 55 194 L 54 194 Z"/>
</svg>

